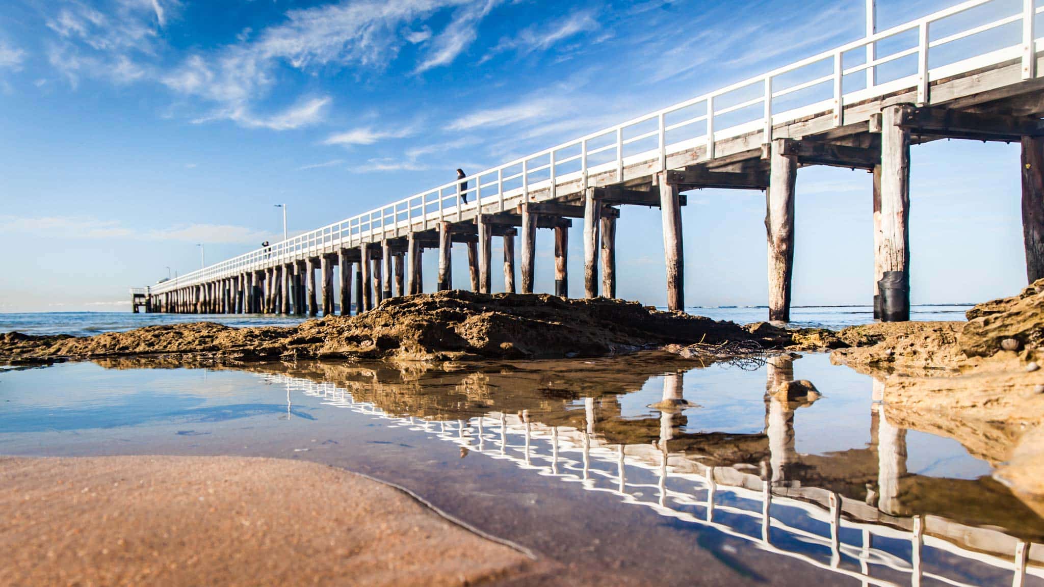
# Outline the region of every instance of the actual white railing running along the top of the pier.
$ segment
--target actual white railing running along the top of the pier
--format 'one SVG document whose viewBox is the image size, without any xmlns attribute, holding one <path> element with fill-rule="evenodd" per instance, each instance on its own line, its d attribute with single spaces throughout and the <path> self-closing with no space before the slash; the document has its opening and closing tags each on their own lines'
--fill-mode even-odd
<svg viewBox="0 0 1044 587">
<path fill-rule="evenodd" d="M 918 103 L 927 103 L 930 80 L 990 65 L 1021 58 L 1022 78 L 1036 77 L 1035 58 L 1039 47 L 1034 17 L 1044 13 L 1044 7 L 1037 7 L 1035 0 L 1022 0 L 1022 7 L 1016 14 L 996 18 L 993 14 L 996 10 L 992 8 L 1002 3 L 1002 0 L 962 2 L 762 75 L 491 167 L 467 180 L 454 180 L 269 248 L 196 269 L 153 286 L 152 292 L 163 294 L 229 278 L 357 246 L 361 242 L 377 242 L 403 232 L 428 230 L 442 220 L 460 220 L 465 212 L 500 212 L 519 201 L 530 201 L 532 192 L 537 191 L 542 193 L 541 199 L 551 199 L 565 184 L 586 186 L 595 175 L 602 184 L 617 183 L 625 179 L 628 166 L 652 163 L 656 169 L 665 170 L 668 158 L 681 152 L 703 149 L 701 160 L 714 159 L 715 145 L 725 139 L 760 132 L 762 143 L 765 143 L 772 139 L 774 125 L 813 114 L 832 112 L 833 124 L 841 125 L 845 104 L 897 91 L 916 88 Z M 970 22 L 959 22 L 958 17 Z M 962 28 L 934 39 L 930 34 L 932 25 L 945 32 L 954 24 Z M 946 51 L 959 52 L 957 42 L 966 39 L 974 38 L 982 41 L 980 45 L 989 45 L 987 36 L 1002 34 L 1004 27 L 1016 32 L 1019 26 L 1021 33 L 1017 44 L 999 48 L 988 46 L 987 50 L 978 47 L 980 52 L 959 58 L 953 58 Z M 909 46 L 902 46 L 903 41 Z M 888 49 L 889 45 L 901 48 Z M 889 52 L 878 54 L 885 49 Z M 876 56 L 868 61 L 871 55 Z M 929 56 L 952 61 L 931 67 Z M 861 63 L 847 67 L 846 61 L 850 57 Z M 901 72 L 895 73 L 889 68 Z M 856 88 L 849 90 L 847 86 Z M 641 174 L 648 174 L 648 171 Z M 468 187 L 458 190 L 464 181 L 468 182 Z M 458 203 L 460 193 L 469 195 L 472 202 Z"/>
</svg>

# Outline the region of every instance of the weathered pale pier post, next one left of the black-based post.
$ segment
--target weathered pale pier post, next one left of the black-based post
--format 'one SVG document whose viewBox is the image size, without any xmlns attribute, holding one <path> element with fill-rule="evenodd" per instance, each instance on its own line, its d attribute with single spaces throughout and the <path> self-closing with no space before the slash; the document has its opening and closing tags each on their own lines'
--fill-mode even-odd
<svg viewBox="0 0 1044 587">
<path fill-rule="evenodd" d="M 786 139 L 772 142 L 768 189 L 765 192 L 765 232 L 768 237 L 768 320 L 790 320 L 790 281 L 793 275 L 793 203 L 798 158 L 785 155 Z"/>
</svg>

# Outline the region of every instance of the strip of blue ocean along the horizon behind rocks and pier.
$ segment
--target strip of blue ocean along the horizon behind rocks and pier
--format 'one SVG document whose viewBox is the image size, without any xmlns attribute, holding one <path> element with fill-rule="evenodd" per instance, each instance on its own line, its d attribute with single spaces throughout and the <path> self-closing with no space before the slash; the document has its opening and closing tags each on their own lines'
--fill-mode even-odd
<svg viewBox="0 0 1044 587">
<path fill-rule="evenodd" d="M 911 320 L 965 320 L 971 304 L 924 305 L 910 309 Z M 767 306 L 689 306 L 686 311 L 714 320 L 750 324 L 768 320 Z M 840 329 L 874 322 L 871 306 L 800 306 L 790 310 L 791 325 Z M 216 322 L 227 326 L 293 326 L 304 319 L 271 314 L 164 314 L 132 312 L 25 312 L 0 313 L 0 333 L 72 334 L 91 336 L 101 332 L 122 332 L 157 324 Z"/>
</svg>

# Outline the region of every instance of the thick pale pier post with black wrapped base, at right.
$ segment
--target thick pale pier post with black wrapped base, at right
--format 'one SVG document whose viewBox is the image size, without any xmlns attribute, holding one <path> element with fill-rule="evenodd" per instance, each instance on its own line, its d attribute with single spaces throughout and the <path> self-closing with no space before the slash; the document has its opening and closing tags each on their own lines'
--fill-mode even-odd
<svg viewBox="0 0 1044 587">
<path fill-rule="evenodd" d="M 881 112 L 881 242 L 876 259 L 882 274 L 902 272 L 901 287 L 888 296 L 894 307 L 906 311 L 882 315 L 897 322 L 909 320 L 910 134 L 900 126 L 909 108 L 893 105 Z"/>
</svg>

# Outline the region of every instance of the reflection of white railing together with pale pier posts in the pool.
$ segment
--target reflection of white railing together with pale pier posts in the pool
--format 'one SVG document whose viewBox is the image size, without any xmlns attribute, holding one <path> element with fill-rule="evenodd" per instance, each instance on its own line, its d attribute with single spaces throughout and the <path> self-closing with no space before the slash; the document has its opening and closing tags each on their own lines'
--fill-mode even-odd
<svg viewBox="0 0 1044 587">
<path fill-rule="evenodd" d="M 772 392 L 793 379 L 792 359 L 776 357 L 766 372 L 766 390 Z M 879 402 L 872 407 L 871 420 L 878 490 L 876 495 L 869 492 L 867 502 L 861 502 L 835 491 L 802 487 L 799 479 L 790 478 L 788 467 L 798 456 L 793 410 L 801 404 L 783 401 L 773 393 L 766 394 L 765 400 L 769 456 L 757 473 L 708 466 L 685 453 L 669 451 L 668 441 L 678 436 L 680 426 L 680 409 L 672 405 L 686 403 L 681 373 L 664 376 L 663 401 L 656 404 L 661 412 L 659 439 L 649 444 L 610 443 L 596 433 L 598 409 L 591 397 L 583 401 L 583 427 L 546 425 L 533 421 L 526 409 L 435 420 L 387 414 L 375 403 L 357 401 L 350 391 L 334 383 L 262 376 L 286 385 L 288 405 L 290 391 L 319 398 L 326 404 L 385 420 L 389 426 L 453 443 L 461 456 L 482 454 L 542 476 L 578 484 L 586 491 L 612 494 L 625 503 L 714 529 L 762 550 L 857 579 L 862 585 L 898 585 L 896 578 L 911 585 L 920 585 L 924 579 L 971 585 L 926 569 L 923 561 L 929 556 L 931 560 L 956 556 L 969 565 L 1009 570 L 1013 585 L 1023 585 L 1027 576 L 1044 578 L 1044 568 L 1039 566 L 1044 558 L 1041 544 L 940 516 L 910 516 L 909 508 L 899 499 L 899 482 L 907 474 L 905 430 L 887 421 Z M 882 385 L 874 384 L 876 400 Z M 876 503 L 869 504 L 871 501 Z M 875 545 L 875 541 L 889 544 Z M 901 549 L 895 547 L 895 541 L 908 544 L 909 555 L 897 554 Z"/>
</svg>

